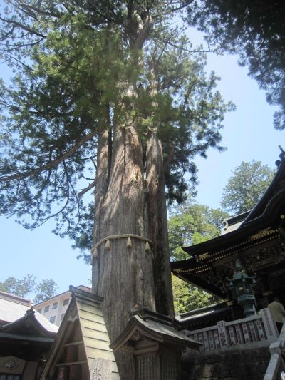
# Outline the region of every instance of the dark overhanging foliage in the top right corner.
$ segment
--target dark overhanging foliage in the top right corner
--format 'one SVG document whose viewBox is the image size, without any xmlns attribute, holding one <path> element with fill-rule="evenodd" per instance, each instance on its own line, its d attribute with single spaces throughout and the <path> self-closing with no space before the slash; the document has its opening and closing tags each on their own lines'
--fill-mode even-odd
<svg viewBox="0 0 285 380">
<path fill-rule="evenodd" d="M 210 48 L 238 53 L 249 76 L 266 90 L 277 129 L 285 128 L 285 4 L 268 0 L 187 1 L 188 21 L 206 34 Z"/>
</svg>

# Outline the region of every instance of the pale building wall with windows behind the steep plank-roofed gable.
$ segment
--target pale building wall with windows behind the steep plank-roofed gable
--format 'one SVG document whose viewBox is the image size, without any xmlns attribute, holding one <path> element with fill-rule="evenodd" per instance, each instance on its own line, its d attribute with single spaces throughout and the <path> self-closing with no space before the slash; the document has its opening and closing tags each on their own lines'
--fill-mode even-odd
<svg viewBox="0 0 285 380">
<path fill-rule="evenodd" d="M 89 287 L 84 287 L 83 285 L 80 285 L 77 288 L 85 290 L 86 292 L 91 292 Z M 56 326 L 60 326 L 70 301 L 71 292 L 68 291 L 47 299 L 40 304 L 36 304 L 33 308 L 46 317 L 49 322 L 56 324 Z"/>
</svg>

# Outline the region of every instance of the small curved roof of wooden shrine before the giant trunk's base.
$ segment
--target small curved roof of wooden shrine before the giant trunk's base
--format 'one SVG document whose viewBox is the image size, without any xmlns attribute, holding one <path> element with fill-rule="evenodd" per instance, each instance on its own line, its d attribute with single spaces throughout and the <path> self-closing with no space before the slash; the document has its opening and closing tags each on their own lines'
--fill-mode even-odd
<svg viewBox="0 0 285 380">
<path fill-rule="evenodd" d="M 180 332 L 181 329 L 177 320 L 147 309 L 140 309 L 133 314 L 125 330 L 110 346 L 114 351 L 133 353 L 132 342 L 140 336 L 153 342 L 177 346 L 180 349 L 184 347 L 198 349 L 199 342 L 187 338 Z"/>
</svg>

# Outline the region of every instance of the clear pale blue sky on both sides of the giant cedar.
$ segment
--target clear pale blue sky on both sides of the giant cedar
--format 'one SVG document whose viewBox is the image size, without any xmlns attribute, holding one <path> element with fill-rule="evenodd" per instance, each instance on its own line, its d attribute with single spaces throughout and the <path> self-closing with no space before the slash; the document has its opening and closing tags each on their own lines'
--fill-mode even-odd
<svg viewBox="0 0 285 380">
<path fill-rule="evenodd" d="M 242 161 L 260 160 L 274 168 L 279 157 L 278 145 L 285 150 L 284 132 L 274 130 L 274 107 L 266 103 L 264 91 L 247 76 L 247 68 L 237 64 L 236 56 L 208 56 L 208 68 L 221 76 L 219 91 L 237 111 L 226 115 L 222 144 L 227 151 L 209 150 L 207 160 L 197 158 L 199 186 L 197 202 L 219 207 L 222 190 L 232 170 Z M 29 231 L 14 220 L 0 217 L 1 272 L 0 282 L 7 277 L 23 278 L 34 274 L 38 280 L 54 279 L 58 293 L 69 285 L 89 286 L 91 268 L 77 260 L 78 251 L 68 239 L 53 235 L 53 222 Z"/>
</svg>

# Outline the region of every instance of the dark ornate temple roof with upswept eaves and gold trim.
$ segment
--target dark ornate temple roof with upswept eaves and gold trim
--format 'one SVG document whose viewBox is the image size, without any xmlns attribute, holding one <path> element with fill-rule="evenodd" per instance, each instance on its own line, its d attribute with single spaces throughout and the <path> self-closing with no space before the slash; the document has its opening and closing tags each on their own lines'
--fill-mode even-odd
<svg viewBox="0 0 285 380">
<path fill-rule="evenodd" d="M 229 220 L 223 235 L 197 245 L 183 247 L 190 259 L 172 262 L 172 272 L 218 297 L 227 297 L 223 279 L 242 260 L 248 272 L 274 271 L 285 267 L 282 240 L 285 237 L 285 155 L 269 188 L 251 212 Z M 257 254 L 254 254 L 257 252 Z"/>
</svg>

